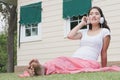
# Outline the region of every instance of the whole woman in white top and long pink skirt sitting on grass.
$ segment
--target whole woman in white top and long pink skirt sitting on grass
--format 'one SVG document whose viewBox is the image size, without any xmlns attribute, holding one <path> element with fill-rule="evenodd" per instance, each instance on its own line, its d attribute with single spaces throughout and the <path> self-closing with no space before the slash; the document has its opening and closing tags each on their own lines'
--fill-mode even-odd
<svg viewBox="0 0 120 80">
<path fill-rule="evenodd" d="M 81 29 L 86 25 L 89 25 L 89 29 Z M 120 71 L 120 67 L 117 66 L 106 67 L 110 29 L 99 7 L 92 7 L 88 12 L 88 16 L 83 16 L 81 22 L 70 31 L 68 38 L 72 40 L 79 39 L 79 49 L 72 57 L 58 57 L 46 62 L 43 65 L 44 68 L 39 69 L 39 71 L 42 71 L 39 75 Z M 101 65 L 97 62 L 99 55 L 101 55 Z M 39 65 L 39 67 L 41 66 Z"/>
</svg>

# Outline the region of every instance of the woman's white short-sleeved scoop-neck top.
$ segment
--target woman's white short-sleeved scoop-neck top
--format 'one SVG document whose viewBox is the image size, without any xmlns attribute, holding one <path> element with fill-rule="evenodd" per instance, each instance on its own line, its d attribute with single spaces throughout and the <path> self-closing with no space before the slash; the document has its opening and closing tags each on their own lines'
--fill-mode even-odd
<svg viewBox="0 0 120 80">
<path fill-rule="evenodd" d="M 99 34 L 89 36 L 88 29 L 80 30 L 82 38 L 80 40 L 80 48 L 72 55 L 72 57 L 82 58 L 86 60 L 97 60 L 101 53 L 103 39 L 105 36 L 110 35 L 110 31 L 102 28 Z"/>
</svg>

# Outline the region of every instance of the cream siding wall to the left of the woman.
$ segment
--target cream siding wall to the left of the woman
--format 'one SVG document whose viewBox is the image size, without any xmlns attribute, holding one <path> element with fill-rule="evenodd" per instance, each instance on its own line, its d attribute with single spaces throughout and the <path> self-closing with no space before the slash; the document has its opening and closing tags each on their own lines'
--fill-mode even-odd
<svg viewBox="0 0 120 80">
<path fill-rule="evenodd" d="M 18 10 L 21 5 L 31 4 L 35 1 L 18 0 Z M 64 24 L 62 0 L 42 0 L 42 40 L 20 44 L 20 48 L 18 47 L 17 50 L 17 66 L 27 65 L 33 58 L 44 63 L 59 56 L 71 56 L 79 44 L 78 41 L 68 40 L 64 37 Z"/>
</svg>

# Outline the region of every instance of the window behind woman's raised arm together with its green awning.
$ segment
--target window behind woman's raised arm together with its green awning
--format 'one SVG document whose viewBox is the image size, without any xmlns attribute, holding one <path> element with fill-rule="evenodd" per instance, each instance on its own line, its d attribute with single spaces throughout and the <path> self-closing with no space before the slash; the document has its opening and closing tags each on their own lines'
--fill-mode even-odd
<svg viewBox="0 0 120 80">
<path fill-rule="evenodd" d="M 63 0 L 64 37 L 81 21 L 82 16 L 88 13 L 91 6 L 91 0 Z"/>
</svg>

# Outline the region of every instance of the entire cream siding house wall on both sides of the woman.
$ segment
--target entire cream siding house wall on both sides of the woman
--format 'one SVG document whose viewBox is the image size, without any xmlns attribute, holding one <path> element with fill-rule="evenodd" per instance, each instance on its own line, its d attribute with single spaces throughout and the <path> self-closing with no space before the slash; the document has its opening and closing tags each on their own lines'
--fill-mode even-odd
<svg viewBox="0 0 120 80">
<path fill-rule="evenodd" d="M 33 58 L 44 63 L 58 56 L 71 56 L 79 47 L 79 41 L 64 37 L 65 20 L 62 18 L 62 0 L 18 0 L 18 22 L 20 6 L 40 1 L 42 1 L 42 40 L 20 44 L 20 48 L 17 49 L 17 66 L 27 65 Z M 120 1 L 93 0 L 92 3 L 93 6 L 99 5 L 103 9 L 111 28 L 108 60 L 120 61 Z"/>
</svg>

